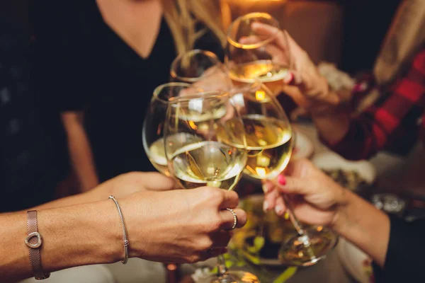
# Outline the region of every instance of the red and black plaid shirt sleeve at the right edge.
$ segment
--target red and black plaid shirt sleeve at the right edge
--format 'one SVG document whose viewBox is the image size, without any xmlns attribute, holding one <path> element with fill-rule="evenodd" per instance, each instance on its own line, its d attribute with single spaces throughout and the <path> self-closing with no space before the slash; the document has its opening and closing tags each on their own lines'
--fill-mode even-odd
<svg viewBox="0 0 425 283">
<path fill-rule="evenodd" d="M 345 158 L 369 158 L 391 142 L 421 134 L 425 141 L 425 48 L 405 76 L 375 105 L 351 121 L 346 136 L 331 149 Z"/>
</svg>

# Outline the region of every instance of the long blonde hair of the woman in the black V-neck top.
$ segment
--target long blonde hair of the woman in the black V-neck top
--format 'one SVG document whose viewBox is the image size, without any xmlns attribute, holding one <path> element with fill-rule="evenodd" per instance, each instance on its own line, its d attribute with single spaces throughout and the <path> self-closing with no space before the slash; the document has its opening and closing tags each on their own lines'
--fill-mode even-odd
<svg viewBox="0 0 425 283">
<path fill-rule="evenodd" d="M 225 45 L 220 11 L 213 0 L 162 0 L 164 17 L 174 37 L 177 54 L 192 50 L 196 40 L 208 32 L 208 29 Z M 196 30 L 203 23 L 205 28 Z"/>
</svg>

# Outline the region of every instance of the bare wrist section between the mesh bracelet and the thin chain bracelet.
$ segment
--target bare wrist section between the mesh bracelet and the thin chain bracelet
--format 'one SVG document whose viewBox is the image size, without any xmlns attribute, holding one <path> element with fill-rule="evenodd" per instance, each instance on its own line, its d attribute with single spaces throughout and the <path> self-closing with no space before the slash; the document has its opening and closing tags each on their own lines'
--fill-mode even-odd
<svg viewBox="0 0 425 283">
<path fill-rule="evenodd" d="M 47 271 L 123 258 L 122 229 L 112 201 L 47 209 L 39 215 Z"/>
</svg>

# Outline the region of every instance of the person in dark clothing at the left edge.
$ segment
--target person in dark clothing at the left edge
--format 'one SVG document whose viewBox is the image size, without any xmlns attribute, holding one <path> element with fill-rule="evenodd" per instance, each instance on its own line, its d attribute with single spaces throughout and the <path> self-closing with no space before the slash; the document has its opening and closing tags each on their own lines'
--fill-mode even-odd
<svg viewBox="0 0 425 283">
<path fill-rule="evenodd" d="M 42 125 L 30 33 L 15 20 L 0 17 L 0 212 L 52 200 L 66 171 Z"/>
</svg>

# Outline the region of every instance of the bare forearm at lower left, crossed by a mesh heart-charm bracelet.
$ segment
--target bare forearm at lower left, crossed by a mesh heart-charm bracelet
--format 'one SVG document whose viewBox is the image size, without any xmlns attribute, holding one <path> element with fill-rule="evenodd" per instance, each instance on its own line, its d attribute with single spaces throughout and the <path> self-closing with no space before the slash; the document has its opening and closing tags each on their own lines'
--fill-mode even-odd
<svg viewBox="0 0 425 283">
<path fill-rule="evenodd" d="M 38 211 L 45 272 L 115 262 L 122 257 L 122 230 L 113 202 L 103 201 Z M 15 282 L 32 276 L 26 212 L 0 216 L 0 274 Z"/>
</svg>

